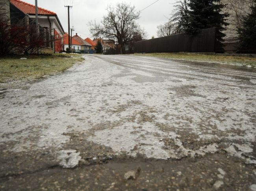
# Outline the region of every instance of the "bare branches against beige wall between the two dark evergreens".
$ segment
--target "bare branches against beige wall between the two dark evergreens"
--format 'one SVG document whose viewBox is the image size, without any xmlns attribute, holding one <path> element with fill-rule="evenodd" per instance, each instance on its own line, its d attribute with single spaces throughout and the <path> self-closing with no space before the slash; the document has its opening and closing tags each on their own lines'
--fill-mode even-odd
<svg viewBox="0 0 256 191">
<path fill-rule="evenodd" d="M 229 13 L 227 22 L 229 23 L 226 31 L 227 36 L 237 36 L 237 29 L 241 28 L 243 17 L 250 13 L 250 6 L 253 0 L 222 0 L 226 6 L 223 12 Z"/>
</svg>

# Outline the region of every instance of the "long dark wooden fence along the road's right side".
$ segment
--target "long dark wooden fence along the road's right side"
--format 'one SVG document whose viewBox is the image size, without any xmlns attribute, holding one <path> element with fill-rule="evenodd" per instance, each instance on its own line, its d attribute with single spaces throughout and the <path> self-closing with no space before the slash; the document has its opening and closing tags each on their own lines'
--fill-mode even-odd
<svg viewBox="0 0 256 191">
<path fill-rule="evenodd" d="M 135 53 L 214 52 L 215 27 L 202 29 L 196 36 L 185 33 L 134 43 Z"/>
</svg>

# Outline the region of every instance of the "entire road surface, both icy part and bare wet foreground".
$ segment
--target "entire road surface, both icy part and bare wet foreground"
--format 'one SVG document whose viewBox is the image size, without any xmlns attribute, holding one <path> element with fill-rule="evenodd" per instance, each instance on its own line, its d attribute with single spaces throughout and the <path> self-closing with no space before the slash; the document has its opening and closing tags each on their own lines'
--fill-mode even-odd
<svg viewBox="0 0 256 191">
<path fill-rule="evenodd" d="M 256 69 L 86 55 L 0 93 L 2 190 L 256 190 Z"/>
</svg>

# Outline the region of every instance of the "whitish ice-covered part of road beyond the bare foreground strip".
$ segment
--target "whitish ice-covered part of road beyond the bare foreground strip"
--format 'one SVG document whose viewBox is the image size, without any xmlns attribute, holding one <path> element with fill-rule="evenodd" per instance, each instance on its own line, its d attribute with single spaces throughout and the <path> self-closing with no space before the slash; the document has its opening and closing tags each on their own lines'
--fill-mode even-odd
<svg viewBox="0 0 256 191">
<path fill-rule="evenodd" d="M 50 148 L 63 166 L 74 156 L 72 167 L 83 160 L 79 149 L 63 149 L 72 134 L 114 155 L 167 159 L 225 152 L 256 164 L 253 68 L 86 55 L 65 73 L 1 96 L 1 151 Z"/>
</svg>

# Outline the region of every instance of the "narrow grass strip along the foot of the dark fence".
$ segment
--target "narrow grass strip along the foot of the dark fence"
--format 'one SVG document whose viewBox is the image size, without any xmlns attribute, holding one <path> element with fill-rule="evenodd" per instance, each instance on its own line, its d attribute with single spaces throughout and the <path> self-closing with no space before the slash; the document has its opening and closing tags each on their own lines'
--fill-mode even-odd
<svg viewBox="0 0 256 191">
<path fill-rule="evenodd" d="M 256 66 L 256 58 L 245 56 L 224 56 L 224 55 L 196 55 L 189 53 L 147 53 L 138 56 L 153 56 L 158 58 L 171 58 L 175 60 L 186 60 L 191 62 L 209 62 L 233 65 L 252 65 Z"/>
</svg>

